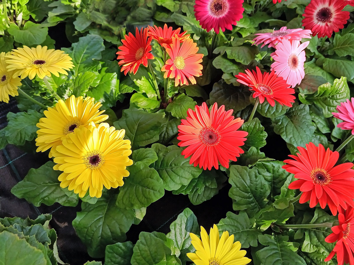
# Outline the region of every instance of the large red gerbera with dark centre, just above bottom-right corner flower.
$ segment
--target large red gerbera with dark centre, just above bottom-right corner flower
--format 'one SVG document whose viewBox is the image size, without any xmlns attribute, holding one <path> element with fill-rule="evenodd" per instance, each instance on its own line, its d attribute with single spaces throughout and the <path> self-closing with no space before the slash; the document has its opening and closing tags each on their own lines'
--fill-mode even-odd
<svg viewBox="0 0 354 265">
<path fill-rule="evenodd" d="M 295 159 L 284 160 L 289 165 L 282 166 L 287 172 L 295 174 L 298 180 L 290 183 L 289 189 L 300 189 L 300 203 L 310 201 L 310 207 L 318 203 L 322 209 L 328 204 L 333 215 L 337 214 L 339 206 L 347 209 L 347 204 L 354 206 L 354 170 L 353 163 L 334 166 L 339 157 L 338 152 L 332 152 L 320 144 L 313 143 L 306 148 L 297 147 L 300 153 L 289 155 Z"/>
</svg>

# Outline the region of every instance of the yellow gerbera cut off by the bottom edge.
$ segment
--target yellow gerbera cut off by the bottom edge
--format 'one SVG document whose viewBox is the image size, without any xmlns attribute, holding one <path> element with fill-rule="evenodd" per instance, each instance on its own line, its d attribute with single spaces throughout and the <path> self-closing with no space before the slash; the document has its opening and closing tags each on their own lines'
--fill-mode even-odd
<svg viewBox="0 0 354 265">
<path fill-rule="evenodd" d="M 234 235 L 229 236 L 228 231 L 224 231 L 219 239 L 216 225 L 210 229 L 210 238 L 202 226 L 200 229 L 201 240 L 193 233 L 189 234 L 196 251 L 187 253 L 187 256 L 195 265 L 245 265 L 251 261 L 244 257 L 246 251 L 240 250 L 240 241 L 234 243 Z"/>
</svg>

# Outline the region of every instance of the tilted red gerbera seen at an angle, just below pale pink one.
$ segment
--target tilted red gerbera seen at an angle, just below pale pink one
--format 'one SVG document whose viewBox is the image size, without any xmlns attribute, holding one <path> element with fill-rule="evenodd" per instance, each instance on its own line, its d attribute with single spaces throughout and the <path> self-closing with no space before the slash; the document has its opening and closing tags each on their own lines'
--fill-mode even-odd
<svg viewBox="0 0 354 265">
<path fill-rule="evenodd" d="M 267 99 L 269 104 L 274 107 L 275 101 L 278 101 L 281 105 L 291 107 L 291 102 L 294 102 L 295 96 L 292 94 L 295 93 L 295 90 L 288 88 L 289 85 L 285 82 L 282 77 L 276 76 L 275 72 L 270 73 L 261 73 L 258 66 L 256 71 L 252 72 L 246 69 L 246 73 L 239 73 L 235 77 L 238 78 L 237 81 L 241 84 L 250 87 L 250 90 L 253 90 L 253 98 L 258 96 L 259 102 L 262 104 L 264 98 Z"/>
</svg>

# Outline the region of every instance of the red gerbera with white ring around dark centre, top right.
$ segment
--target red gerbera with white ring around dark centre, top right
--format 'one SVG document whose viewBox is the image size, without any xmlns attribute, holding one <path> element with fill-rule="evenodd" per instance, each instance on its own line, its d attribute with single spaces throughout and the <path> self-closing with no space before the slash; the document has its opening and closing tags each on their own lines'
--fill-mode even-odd
<svg viewBox="0 0 354 265">
<path fill-rule="evenodd" d="M 332 32 L 343 29 L 349 19 L 349 12 L 342 11 L 346 2 L 343 0 L 311 0 L 302 14 L 302 25 L 312 31 L 312 36 L 332 36 Z"/>
</svg>

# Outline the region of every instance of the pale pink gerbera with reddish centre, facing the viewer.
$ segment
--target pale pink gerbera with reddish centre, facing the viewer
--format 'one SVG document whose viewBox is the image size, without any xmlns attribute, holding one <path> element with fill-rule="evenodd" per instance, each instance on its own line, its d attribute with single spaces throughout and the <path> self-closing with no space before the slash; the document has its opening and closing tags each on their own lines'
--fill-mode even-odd
<svg viewBox="0 0 354 265">
<path fill-rule="evenodd" d="M 277 76 L 281 76 L 291 87 L 301 83 L 305 76 L 304 61 L 306 60 L 304 49 L 309 41 L 300 44 L 300 41 L 282 40 L 276 45 L 276 50 L 270 56 L 274 63 L 270 65 Z"/>
</svg>

